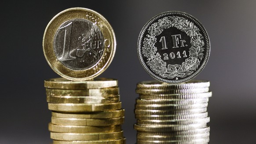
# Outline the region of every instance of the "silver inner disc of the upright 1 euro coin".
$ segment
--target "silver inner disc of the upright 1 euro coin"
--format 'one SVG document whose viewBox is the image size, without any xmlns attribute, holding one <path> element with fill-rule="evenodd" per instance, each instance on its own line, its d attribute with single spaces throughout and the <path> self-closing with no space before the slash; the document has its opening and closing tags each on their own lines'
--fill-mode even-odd
<svg viewBox="0 0 256 144">
<path fill-rule="evenodd" d="M 69 53 L 63 52 L 66 49 Z M 103 51 L 104 37 L 101 30 L 95 23 L 86 19 L 68 20 L 60 25 L 55 33 L 55 55 L 67 68 L 73 70 L 91 68 L 101 59 Z"/>
</svg>

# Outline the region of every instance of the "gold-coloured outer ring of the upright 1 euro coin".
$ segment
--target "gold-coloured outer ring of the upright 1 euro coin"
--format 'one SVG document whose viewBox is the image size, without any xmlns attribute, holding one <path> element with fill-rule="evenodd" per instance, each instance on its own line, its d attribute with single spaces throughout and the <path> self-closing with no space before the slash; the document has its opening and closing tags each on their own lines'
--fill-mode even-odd
<svg viewBox="0 0 256 144">
<path fill-rule="evenodd" d="M 104 23 L 104 25 L 106 25 L 106 29 L 109 32 L 108 35 L 109 35 L 110 41 L 111 41 L 110 54 L 108 54 L 109 58 L 107 58 L 107 60 L 103 63 L 103 65 L 100 67 L 100 69 L 98 69 L 96 72 L 94 71 L 94 68 L 95 68 L 95 66 L 97 66 L 99 64 L 100 61 L 102 61 L 103 57 L 99 60 L 99 62 L 96 65 L 92 66 L 91 68 L 87 68 L 85 70 L 72 70 L 70 68 L 67 68 L 60 61 L 58 61 L 58 59 L 54 53 L 53 39 L 54 39 L 54 35 L 56 32 L 55 29 L 58 29 L 60 26 L 60 25 L 54 25 L 54 22 L 57 17 L 61 16 L 62 14 L 65 14 L 66 12 L 69 12 L 69 11 L 80 11 L 80 13 L 85 13 L 85 14 L 76 15 L 76 17 L 74 17 L 74 18 L 82 18 L 82 19 L 87 19 L 85 17 L 85 15 L 86 15 L 86 12 L 89 12 L 89 13 L 94 14 L 97 17 L 101 18 L 101 21 Z M 58 21 L 58 23 L 64 23 L 64 22 L 66 22 L 70 19 L 74 19 L 74 18 L 62 18 L 61 22 L 59 22 L 58 20 L 56 20 L 56 21 Z M 96 25 L 98 25 L 98 24 L 96 24 Z M 100 27 L 99 27 L 99 29 L 102 31 L 102 29 Z M 49 31 L 51 31 L 51 32 L 49 32 Z M 54 31 L 54 32 L 52 32 L 52 31 Z M 106 51 L 106 49 L 107 48 L 105 47 L 104 51 Z M 51 50 L 51 52 L 46 52 L 48 50 Z M 48 23 L 48 25 L 44 31 L 44 36 L 43 36 L 43 51 L 44 51 L 44 56 L 46 58 L 46 61 L 48 62 L 50 67 L 53 69 L 53 71 L 55 71 L 57 74 L 59 74 L 60 76 L 66 78 L 66 79 L 69 79 L 69 80 L 84 81 L 84 80 L 92 79 L 96 76 L 99 76 L 102 72 L 104 72 L 106 70 L 106 68 L 108 68 L 111 61 L 113 60 L 113 57 L 114 57 L 114 54 L 116 51 L 116 37 L 115 37 L 113 28 L 111 27 L 110 23 L 101 14 L 99 14 L 96 11 L 93 11 L 93 10 L 90 10 L 87 8 L 83 8 L 83 7 L 73 7 L 73 8 L 69 8 L 64 11 L 61 11 L 59 14 L 55 15 L 55 17 L 53 17 L 51 19 L 51 21 Z M 54 63 L 56 63 L 56 64 L 54 64 Z M 56 67 L 56 65 L 58 65 L 58 67 Z M 86 76 L 86 77 L 84 77 L 84 76 Z"/>
</svg>

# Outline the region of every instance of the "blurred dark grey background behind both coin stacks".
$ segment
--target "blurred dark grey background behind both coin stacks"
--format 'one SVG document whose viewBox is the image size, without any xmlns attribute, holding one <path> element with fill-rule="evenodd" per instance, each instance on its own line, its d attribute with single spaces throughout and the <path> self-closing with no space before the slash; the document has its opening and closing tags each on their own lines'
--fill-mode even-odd
<svg viewBox="0 0 256 144">
<path fill-rule="evenodd" d="M 209 144 L 256 144 L 256 1 L 254 0 L 82 0 L 0 2 L 0 144 L 49 144 L 44 79 L 59 77 L 46 62 L 44 29 L 57 13 L 86 7 L 112 25 L 117 51 L 101 77 L 119 80 L 126 110 L 127 144 L 135 143 L 136 83 L 151 78 L 137 58 L 143 25 L 164 11 L 184 11 L 208 32 L 211 54 L 196 79 L 211 82 Z"/>
</svg>

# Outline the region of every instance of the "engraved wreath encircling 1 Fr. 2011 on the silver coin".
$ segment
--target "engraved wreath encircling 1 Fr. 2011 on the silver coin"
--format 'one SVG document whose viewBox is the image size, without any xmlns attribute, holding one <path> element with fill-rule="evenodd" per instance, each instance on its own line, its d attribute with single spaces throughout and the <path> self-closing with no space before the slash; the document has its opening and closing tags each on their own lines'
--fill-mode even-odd
<svg viewBox="0 0 256 144">
<path fill-rule="evenodd" d="M 187 36 L 190 36 L 191 47 L 189 49 L 189 58 L 185 59 L 182 65 L 168 65 L 166 68 L 166 62 L 161 59 L 161 55 L 156 53 L 157 48 L 154 44 L 157 42 L 156 37 L 163 32 L 164 29 L 170 27 L 176 27 L 177 29 L 186 32 Z M 143 41 L 143 55 L 147 58 L 146 64 L 150 66 L 150 69 L 161 76 L 162 78 L 173 79 L 175 77 L 190 76 L 200 64 L 200 61 L 204 58 L 205 45 L 200 30 L 193 22 L 188 21 L 185 18 L 178 16 L 169 16 L 161 18 L 158 22 L 153 23 L 148 29 L 148 35 Z M 177 78 L 176 78 L 177 79 Z"/>
</svg>

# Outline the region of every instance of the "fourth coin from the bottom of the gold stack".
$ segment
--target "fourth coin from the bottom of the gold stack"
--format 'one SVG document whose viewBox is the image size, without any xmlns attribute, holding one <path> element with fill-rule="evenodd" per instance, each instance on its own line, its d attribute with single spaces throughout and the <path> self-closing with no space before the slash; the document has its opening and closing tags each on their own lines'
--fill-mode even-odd
<svg viewBox="0 0 256 144">
<path fill-rule="evenodd" d="M 51 117 L 51 123 L 62 126 L 115 126 L 124 123 L 124 117 L 111 119 L 74 119 Z"/>
</svg>

